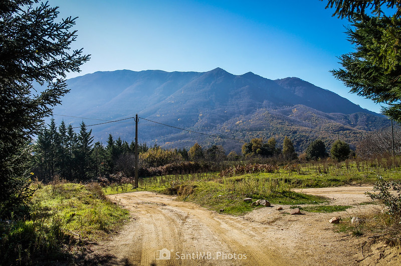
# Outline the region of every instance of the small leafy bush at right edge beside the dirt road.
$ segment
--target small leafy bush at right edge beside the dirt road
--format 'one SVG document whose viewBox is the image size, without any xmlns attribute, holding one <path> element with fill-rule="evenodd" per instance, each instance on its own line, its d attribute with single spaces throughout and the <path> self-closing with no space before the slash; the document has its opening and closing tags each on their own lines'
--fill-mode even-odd
<svg viewBox="0 0 401 266">
<path fill-rule="evenodd" d="M 393 190 L 393 191 L 390 191 Z M 388 213 L 399 219 L 401 217 L 401 182 L 385 181 L 383 177 L 377 175 L 377 181 L 374 183 L 373 191 L 379 191 L 378 194 L 366 192 L 371 199 L 382 200 L 388 207 Z"/>
</svg>

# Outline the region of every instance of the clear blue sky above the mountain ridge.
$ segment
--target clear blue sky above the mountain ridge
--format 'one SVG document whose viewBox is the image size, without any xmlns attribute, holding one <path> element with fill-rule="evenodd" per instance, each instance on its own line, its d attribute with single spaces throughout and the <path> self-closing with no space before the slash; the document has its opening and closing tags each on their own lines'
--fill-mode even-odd
<svg viewBox="0 0 401 266">
<path fill-rule="evenodd" d="M 330 69 L 352 50 L 347 20 L 331 16 L 326 0 L 50 0 L 60 17 L 79 16 L 75 48 L 92 59 L 80 73 L 252 71 L 270 79 L 300 77 L 363 108 L 371 100 L 348 93 Z"/>
</svg>

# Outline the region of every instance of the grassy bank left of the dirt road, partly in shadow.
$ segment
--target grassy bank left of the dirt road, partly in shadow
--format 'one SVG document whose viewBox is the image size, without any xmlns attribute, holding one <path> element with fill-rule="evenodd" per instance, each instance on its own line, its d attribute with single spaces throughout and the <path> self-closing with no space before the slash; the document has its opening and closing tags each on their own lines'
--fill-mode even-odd
<svg viewBox="0 0 401 266">
<path fill-rule="evenodd" d="M 128 211 L 106 199 L 96 183 L 33 186 L 30 216 L 0 222 L 0 264 L 73 263 L 80 246 L 101 239 L 128 218 Z"/>
</svg>

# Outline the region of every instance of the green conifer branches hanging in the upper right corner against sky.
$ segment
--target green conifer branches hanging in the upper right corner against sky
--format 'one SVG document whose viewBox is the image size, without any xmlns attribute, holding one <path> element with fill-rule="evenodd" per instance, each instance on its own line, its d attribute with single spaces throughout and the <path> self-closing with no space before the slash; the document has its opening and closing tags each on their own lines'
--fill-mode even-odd
<svg viewBox="0 0 401 266">
<path fill-rule="evenodd" d="M 394 13 L 385 15 L 383 6 Z M 343 68 L 331 72 L 350 92 L 388 104 L 383 113 L 401 121 L 401 2 L 329 0 L 327 7 L 350 20 L 346 33 L 355 46 L 355 51 L 340 56 Z"/>
</svg>

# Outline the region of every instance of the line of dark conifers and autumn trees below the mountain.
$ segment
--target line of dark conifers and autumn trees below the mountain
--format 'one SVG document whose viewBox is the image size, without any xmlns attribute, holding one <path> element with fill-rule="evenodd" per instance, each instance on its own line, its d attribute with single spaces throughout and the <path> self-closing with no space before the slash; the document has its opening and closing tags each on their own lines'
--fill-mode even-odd
<svg viewBox="0 0 401 266">
<path fill-rule="evenodd" d="M 106 145 L 94 142 L 92 130 L 88 130 L 82 122 L 75 132 L 72 124 L 68 126 L 64 121 L 57 126 L 54 119 L 39 131 L 36 142 L 33 144 L 32 173 L 39 180 L 53 180 L 55 177 L 67 180 L 90 180 L 99 176 L 106 176 L 116 172 L 123 172 L 126 176 L 133 176 L 135 172 L 135 143 L 128 143 L 120 137 L 114 139 L 109 134 Z M 333 149 L 336 147 L 336 149 Z M 342 150 L 341 150 L 342 148 Z M 340 150 L 339 152 L 337 150 Z M 345 159 L 350 152 L 348 144 L 337 141 L 333 144 L 331 155 L 339 160 Z M 212 145 L 203 148 L 195 143 L 190 148 L 164 149 L 157 144 L 148 146 L 138 144 L 140 175 L 146 176 L 157 171 L 151 169 L 175 163 L 175 168 L 185 168 L 185 161 L 207 162 L 208 169 L 223 161 L 236 161 L 250 157 L 276 157 L 282 160 L 298 158 L 294 145 L 289 137 L 285 137 L 282 147 L 277 147 L 277 141 L 271 137 L 266 143 L 261 138 L 253 138 L 242 146 L 242 156 L 235 151 L 226 155 L 221 145 Z M 340 155 L 338 155 L 341 153 Z M 307 159 L 324 158 L 328 154 L 322 140 L 313 141 L 306 149 Z M 180 164 L 181 163 L 181 164 Z M 191 169 L 194 168 L 190 165 Z M 204 167 L 205 168 L 205 167 Z"/>
</svg>

